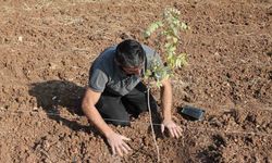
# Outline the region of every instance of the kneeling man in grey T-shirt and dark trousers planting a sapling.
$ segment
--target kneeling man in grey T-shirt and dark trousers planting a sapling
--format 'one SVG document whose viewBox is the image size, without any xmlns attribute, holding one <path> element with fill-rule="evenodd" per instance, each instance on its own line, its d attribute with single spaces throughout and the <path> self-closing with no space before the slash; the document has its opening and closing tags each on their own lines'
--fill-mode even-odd
<svg viewBox="0 0 272 163">
<path fill-rule="evenodd" d="M 140 77 L 153 60 L 162 64 L 152 49 L 128 39 L 106 49 L 90 67 L 82 108 L 88 120 L 107 138 L 113 154 L 122 156 L 128 153 L 131 148 L 124 140 L 129 139 L 113 131 L 103 118 L 114 125 L 126 126 L 129 125 L 129 113 L 137 116 L 147 111 L 147 88 Z M 152 97 L 150 99 L 154 101 Z M 172 121 L 172 88 L 169 79 L 162 80 L 161 101 L 161 131 L 166 127 L 172 137 L 178 138 L 182 129 Z"/>
</svg>

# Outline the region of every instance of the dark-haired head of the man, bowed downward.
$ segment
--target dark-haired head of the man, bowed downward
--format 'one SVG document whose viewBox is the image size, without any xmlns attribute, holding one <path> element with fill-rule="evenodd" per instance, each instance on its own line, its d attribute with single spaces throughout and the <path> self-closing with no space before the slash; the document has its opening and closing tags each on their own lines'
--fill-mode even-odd
<svg viewBox="0 0 272 163">
<path fill-rule="evenodd" d="M 144 67 L 145 50 L 135 40 L 124 40 L 116 47 L 115 60 L 126 74 L 139 75 Z"/>
</svg>

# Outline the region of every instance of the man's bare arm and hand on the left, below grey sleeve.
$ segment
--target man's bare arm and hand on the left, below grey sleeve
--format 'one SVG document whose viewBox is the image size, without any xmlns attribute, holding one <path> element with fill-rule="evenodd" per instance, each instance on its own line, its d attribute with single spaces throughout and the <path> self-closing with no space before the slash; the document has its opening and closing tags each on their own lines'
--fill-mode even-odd
<svg viewBox="0 0 272 163">
<path fill-rule="evenodd" d="M 104 135 L 112 149 L 112 153 L 115 154 L 118 152 L 119 155 L 122 156 L 123 153 L 128 153 L 128 151 L 131 150 L 131 148 L 124 141 L 129 139 L 113 131 L 110 126 L 103 121 L 100 113 L 95 106 L 100 97 L 101 92 L 96 92 L 90 88 L 87 88 L 82 104 L 83 111 L 87 118 L 90 120 L 91 123 Z"/>
</svg>

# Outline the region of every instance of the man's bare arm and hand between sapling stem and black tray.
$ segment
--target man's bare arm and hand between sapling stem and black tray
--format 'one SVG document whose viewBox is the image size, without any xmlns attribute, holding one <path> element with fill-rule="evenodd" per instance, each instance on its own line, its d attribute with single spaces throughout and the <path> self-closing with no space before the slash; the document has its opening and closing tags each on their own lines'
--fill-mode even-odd
<svg viewBox="0 0 272 163">
<path fill-rule="evenodd" d="M 172 86 L 170 79 L 162 80 L 161 103 L 163 116 L 161 131 L 163 133 L 164 127 L 166 127 L 172 137 L 178 138 L 180 136 L 182 136 L 182 128 L 172 121 Z"/>
</svg>

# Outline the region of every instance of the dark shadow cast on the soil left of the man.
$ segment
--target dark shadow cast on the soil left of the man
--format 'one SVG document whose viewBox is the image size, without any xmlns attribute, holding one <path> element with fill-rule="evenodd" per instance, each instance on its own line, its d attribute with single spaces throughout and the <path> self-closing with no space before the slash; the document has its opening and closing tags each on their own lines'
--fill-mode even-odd
<svg viewBox="0 0 272 163">
<path fill-rule="evenodd" d="M 65 108 L 71 114 L 83 116 L 81 103 L 84 92 L 85 88 L 65 80 L 34 83 L 29 89 L 29 95 L 37 98 L 37 105 L 47 112 L 49 118 L 61 122 L 73 130 L 88 130 L 88 126 L 62 117 L 60 109 Z"/>
</svg>

